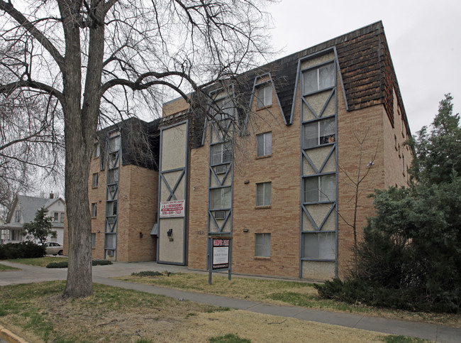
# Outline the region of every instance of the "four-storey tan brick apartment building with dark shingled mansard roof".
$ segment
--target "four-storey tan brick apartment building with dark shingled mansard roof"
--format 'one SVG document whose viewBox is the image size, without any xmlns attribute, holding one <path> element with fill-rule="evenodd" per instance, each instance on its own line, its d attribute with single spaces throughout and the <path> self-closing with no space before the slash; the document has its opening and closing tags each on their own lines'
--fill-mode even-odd
<svg viewBox="0 0 461 343">
<path fill-rule="evenodd" d="M 413 156 L 382 23 L 208 90 L 221 111 L 191 94 L 191 104 L 165 104 L 161 119 L 99 132 L 89 178 L 94 258 L 205 270 L 210 238 L 231 236 L 235 273 L 345 276 L 355 208 L 360 240 L 374 214 L 367 195 L 406 185 Z M 140 131 L 149 162 L 130 143 Z M 358 170 L 368 174 L 355 207 Z"/>
</svg>

